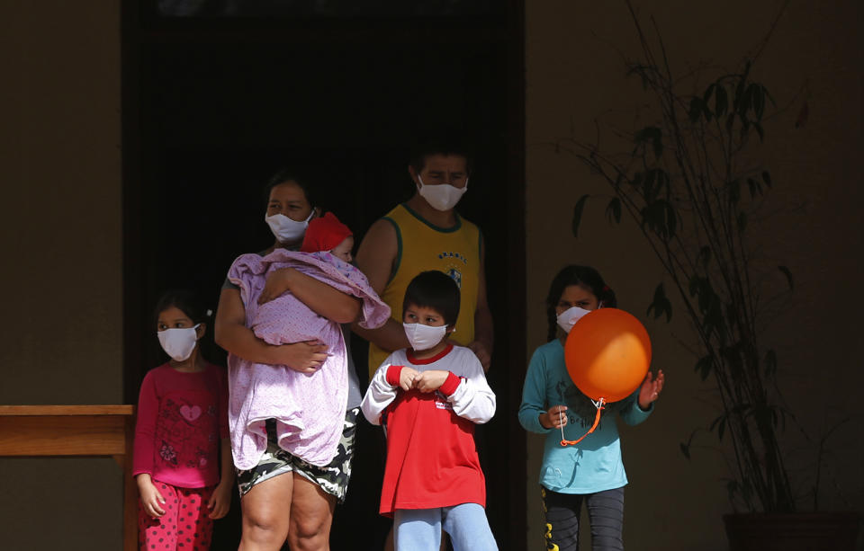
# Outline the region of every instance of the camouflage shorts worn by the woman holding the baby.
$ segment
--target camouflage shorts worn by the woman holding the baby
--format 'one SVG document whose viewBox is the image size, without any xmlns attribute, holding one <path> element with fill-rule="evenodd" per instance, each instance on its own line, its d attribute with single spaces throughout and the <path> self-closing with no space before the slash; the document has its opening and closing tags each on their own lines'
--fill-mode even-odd
<svg viewBox="0 0 864 551">
<path fill-rule="evenodd" d="M 360 408 L 356 407 L 345 413 L 345 423 L 342 428 L 342 438 L 336 457 L 327 467 L 316 467 L 297 458 L 282 448 L 275 439 L 275 422 L 267 421 L 267 449 L 257 466 L 246 471 L 237 471 L 237 485 L 240 497 L 252 489 L 255 484 L 269 480 L 285 473 L 297 473 L 303 478 L 318 484 L 326 493 L 335 495 L 338 501 L 345 502 L 348 492 L 348 481 L 351 478 L 351 459 L 354 458 L 354 440 L 357 429 L 357 415 Z"/>
</svg>

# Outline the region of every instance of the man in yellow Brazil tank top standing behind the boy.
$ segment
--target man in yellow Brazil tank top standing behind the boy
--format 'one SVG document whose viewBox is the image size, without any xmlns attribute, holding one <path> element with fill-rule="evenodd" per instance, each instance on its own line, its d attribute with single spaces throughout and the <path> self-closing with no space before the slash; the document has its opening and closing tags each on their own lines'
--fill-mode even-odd
<svg viewBox="0 0 864 551">
<path fill-rule="evenodd" d="M 419 147 L 408 168 L 414 196 L 377 220 L 357 250 L 357 267 L 392 308 L 383 327 L 354 326 L 369 341 L 370 377 L 392 351 L 409 346 L 401 321 L 402 298 L 410 280 L 428 270 L 443 271 L 459 285 L 462 303 L 451 338 L 473 350 L 483 369 L 489 369 L 493 332 L 482 233 L 454 209 L 468 188 L 469 171 L 468 156 L 458 147 Z"/>
</svg>

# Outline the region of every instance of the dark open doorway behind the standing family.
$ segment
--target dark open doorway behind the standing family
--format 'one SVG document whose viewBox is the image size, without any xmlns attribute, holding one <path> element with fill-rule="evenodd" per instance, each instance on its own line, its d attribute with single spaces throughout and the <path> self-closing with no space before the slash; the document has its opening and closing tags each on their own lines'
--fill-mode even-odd
<svg viewBox="0 0 864 551">
<path fill-rule="evenodd" d="M 459 210 L 486 239 L 496 330 L 489 378 L 498 413 L 482 437 L 487 511 L 500 548 L 522 548 L 523 3 L 419 2 L 411 11 L 375 2 L 364 12 L 357 2 L 199 2 L 186 17 L 160 11 L 165 4 L 123 4 L 126 399 L 134 403 L 161 361 L 149 321 L 158 294 L 194 287 L 215 308 L 230 262 L 272 240 L 261 190 L 277 167 L 320 171 L 324 206 L 362 237 L 410 196 L 411 138 L 463 129 L 477 169 Z M 366 535 L 378 496 L 365 494 L 375 484 L 357 484 L 363 475 L 355 472 L 350 503 L 338 508 L 337 551 L 374 548 Z M 237 503 L 232 510 L 214 549 L 236 548 Z"/>
</svg>

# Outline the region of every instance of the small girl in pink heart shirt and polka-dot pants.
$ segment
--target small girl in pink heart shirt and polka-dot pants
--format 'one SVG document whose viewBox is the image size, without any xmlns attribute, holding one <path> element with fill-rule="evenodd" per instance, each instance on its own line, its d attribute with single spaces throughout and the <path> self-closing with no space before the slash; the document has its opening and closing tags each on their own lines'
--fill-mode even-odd
<svg viewBox="0 0 864 551">
<path fill-rule="evenodd" d="M 213 520 L 229 510 L 228 387 L 198 347 L 209 314 L 187 291 L 157 303 L 157 336 L 171 360 L 148 372 L 138 400 L 132 475 L 140 549 L 209 549 Z"/>
</svg>

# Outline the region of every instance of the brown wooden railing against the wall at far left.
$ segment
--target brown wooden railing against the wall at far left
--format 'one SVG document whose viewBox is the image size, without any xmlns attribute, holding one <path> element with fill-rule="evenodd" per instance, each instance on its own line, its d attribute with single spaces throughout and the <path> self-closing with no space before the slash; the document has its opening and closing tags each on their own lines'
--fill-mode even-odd
<svg viewBox="0 0 864 551">
<path fill-rule="evenodd" d="M 123 473 L 123 550 L 138 548 L 131 405 L 0 405 L 0 457 L 112 457 Z"/>
</svg>

